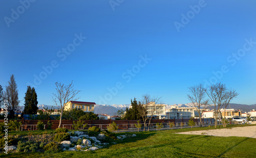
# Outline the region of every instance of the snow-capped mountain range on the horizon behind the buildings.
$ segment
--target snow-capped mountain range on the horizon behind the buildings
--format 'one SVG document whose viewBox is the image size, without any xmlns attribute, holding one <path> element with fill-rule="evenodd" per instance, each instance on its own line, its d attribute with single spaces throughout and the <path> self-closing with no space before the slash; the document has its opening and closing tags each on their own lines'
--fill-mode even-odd
<svg viewBox="0 0 256 158">
<path fill-rule="evenodd" d="M 171 106 L 178 106 L 179 108 L 182 107 L 193 107 L 193 105 L 191 103 L 186 103 L 186 104 L 173 104 L 173 105 L 169 105 L 166 104 L 165 109 L 170 109 Z M 40 104 L 37 105 L 38 109 L 58 109 L 57 106 L 47 106 L 45 104 Z M 96 104 L 94 106 L 94 113 L 95 114 L 108 114 L 108 115 L 117 115 L 117 111 L 118 110 L 125 110 L 126 108 L 129 108 L 130 104 L 112 104 L 112 105 L 108 105 L 108 104 Z M 249 112 L 252 109 L 256 109 L 256 104 L 252 104 L 252 105 L 247 105 L 247 104 L 237 104 L 237 103 L 230 103 L 230 108 L 231 109 L 237 109 L 237 110 L 242 110 L 242 112 Z M 211 108 L 209 108 L 211 109 Z M 227 109 L 229 109 L 229 106 L 227 106 Z M 24 106 L 21 107 L 21 110 L 24 110 Z"/>
</svg>

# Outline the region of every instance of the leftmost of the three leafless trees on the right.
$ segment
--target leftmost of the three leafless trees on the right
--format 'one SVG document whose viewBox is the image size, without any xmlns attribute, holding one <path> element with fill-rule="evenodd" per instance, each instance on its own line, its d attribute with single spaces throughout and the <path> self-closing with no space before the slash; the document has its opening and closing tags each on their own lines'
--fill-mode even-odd
<svg viewBox="0 0 256 158">
<path fill-rule="evenodd" d="M 208 100 L 205 99 L 206 93 L 205 88 L 202 84 L 188 87 L 190 94 L 187 94 L 188 100 L 192 103 L 193 107 L 199 114 L 200 126 L 202 127 L 202 115 L 200 115 L 200 110 L 204 111 L 208 107 Z"/>
</svg>

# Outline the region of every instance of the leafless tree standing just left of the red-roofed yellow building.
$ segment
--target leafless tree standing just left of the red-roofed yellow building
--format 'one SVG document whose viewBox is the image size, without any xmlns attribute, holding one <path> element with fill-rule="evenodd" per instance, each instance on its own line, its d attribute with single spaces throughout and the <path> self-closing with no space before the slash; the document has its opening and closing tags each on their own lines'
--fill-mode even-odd
<svg viewBox="0 0 256 158">
<path fill-rule="evenodd" d="M 76 94 L 79 93 L 80 91 L 74 90 L 73 89 L 74 85 L 72 83 L 73 83 L 73 81 L 69 85 L 64 85 L 64 84 L 61 84 L 58 82 L 55 83 L 55 85 L 56 85 L 55 89 L 56 89 L 57 93 L 56 94 L 53 93 L 55 98 L 54 97 L 52 97 L 52 98 L 53 98 L 53 101 L 55 102 L 56 106 L 60 107 L 59 108 L 60 109 L 60 118 L 59 118 L 58 128 L 60 128 L 60 125 L 61 125 L 62 114 L 66 107 L 66 103 L 69 101 L 75 101 L 80 98 L 80 97 L 75 98 Z"/>
</svg>

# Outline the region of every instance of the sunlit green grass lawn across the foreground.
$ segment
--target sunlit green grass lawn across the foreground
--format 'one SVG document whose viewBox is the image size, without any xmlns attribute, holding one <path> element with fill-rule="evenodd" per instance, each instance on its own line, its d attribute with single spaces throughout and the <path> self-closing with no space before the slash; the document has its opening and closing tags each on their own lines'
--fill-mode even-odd
<svg viewBox="0 0 256 158">
<path fill-rule="evenodd" d="M 246 125 L 228 125 L 228 127 Z M 256 157 L 256 139 L 175 134 L 209 127 L 145 131 L 108 148 L 59 153 L 9 153 L 0 157 Z M 211 127 L 211 129 L 214 129 Z M 122 133 L 131 134 L 131 133 Z"/>
</svg>

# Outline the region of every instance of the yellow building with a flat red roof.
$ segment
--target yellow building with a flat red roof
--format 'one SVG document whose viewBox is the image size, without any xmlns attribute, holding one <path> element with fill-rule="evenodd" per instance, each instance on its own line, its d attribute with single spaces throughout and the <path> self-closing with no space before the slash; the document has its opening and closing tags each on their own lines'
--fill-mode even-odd
<svg viewBox="0 0 256 158">
<path fill-rule="evenodd" d="M 69 101 L 66 103 L 65 110 L 69 109 L 81 109 L 83 112 L 94 113 L 95 102 L 84 102 L 84 101 Z"/>
</svg>

